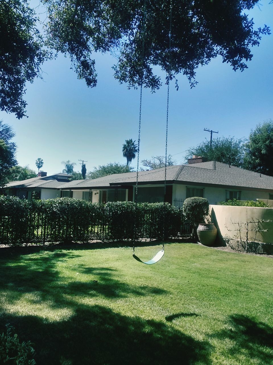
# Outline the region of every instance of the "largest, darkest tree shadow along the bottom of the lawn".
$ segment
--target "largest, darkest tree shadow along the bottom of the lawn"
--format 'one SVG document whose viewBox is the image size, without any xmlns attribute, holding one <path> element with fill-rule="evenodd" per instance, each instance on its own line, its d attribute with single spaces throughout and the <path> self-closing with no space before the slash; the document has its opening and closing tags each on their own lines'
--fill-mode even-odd
<svg viewBox="0 0 273 365">
<path fill-rule="evenodd" d="M 44 364 L 210 364 L 210 345 L 166 323 L 115 313 L 102 306 L 80 306 L 68 320 L 49 323 L 36 316 L 4 316 L 20 339 L 35 345 Z"/>
</svg>

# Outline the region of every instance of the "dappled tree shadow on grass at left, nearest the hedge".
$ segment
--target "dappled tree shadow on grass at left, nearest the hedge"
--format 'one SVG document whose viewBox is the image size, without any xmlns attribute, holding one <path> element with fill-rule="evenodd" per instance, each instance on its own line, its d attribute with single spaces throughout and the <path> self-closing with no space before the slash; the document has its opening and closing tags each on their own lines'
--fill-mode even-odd
<svg viewBox="0 0 273 365">
<path fill-rule="evenodd" d="M 90 268 L 84 264 L 70 265 L 72 277 L 63 277 L 58 270 L 60 262 L 69 265 L 70 259 L 78 257 L 71 251 L 43 253 L 29 257 L 0 260 L 0 295 L 5 296 L 5 303 L 19 303 L 26 294 L 35 293 L 35 303 L 47 302 L 51 308 L 71 308 L 78 304 L 79 297 L 104 297 L 118 299 L 128 296 L 149 296 L 166 294 L 167 291 L 157 287 L 132 286 L 120 280 L 118 270 L 111 268 Z M 2 261 L 2 262 L 1 262 Z M 75 267 L 74 267 L 75 266 Z M 84 279 L 81 276 L 84 274 Z M 67 301 L 65 296 L 74 297 Z M 39 299 L 37 299 L 37 297 Z M 31 301 L 31 299 L 28 299 Z M 2 300 L 3 303 L 3 300 Z M 1 299 L 0 299 L 0 310 Z"/>
</svg>

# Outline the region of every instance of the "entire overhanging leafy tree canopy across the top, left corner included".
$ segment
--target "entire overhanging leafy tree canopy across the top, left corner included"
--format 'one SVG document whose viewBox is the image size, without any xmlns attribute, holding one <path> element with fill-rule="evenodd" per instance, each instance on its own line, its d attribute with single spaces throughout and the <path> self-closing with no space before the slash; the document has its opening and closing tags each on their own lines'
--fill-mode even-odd
<svg viewBox="0 0 273 365">
<path fill-rule="evenodd" d="M 266 25 L 254 29 L 253 19 L 245 14 L 258 0 L 41 3 L 47 13 L 45 39 L 27 0 L 0 2 L 0 109 L 17 118 L 25 115 L 26 82 L 40 76 L 41 64 L 51 58 L 48 49 L 68 55 L 71 68 L 88 87 L 97 83 L 94 54 L 110 52 L 117 59 L 114 77 L 120 83 L 129 88 L 143 83 L 155 91 L 162 80 L 154 66 L 168 72 L 170 79 L 184 74 L 193 87 L 198 66 L 217 55 L 233 70 L 243 71 L 252 59 L 251 47 L 259 45 L 262 34 L 270 34 Z"/>
</svg>

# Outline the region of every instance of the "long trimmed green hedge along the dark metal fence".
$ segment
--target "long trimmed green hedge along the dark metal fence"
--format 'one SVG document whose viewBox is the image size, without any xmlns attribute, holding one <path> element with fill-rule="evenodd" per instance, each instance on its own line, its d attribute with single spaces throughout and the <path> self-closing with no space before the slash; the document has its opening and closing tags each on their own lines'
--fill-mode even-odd
<svg viewBox="0 0 273 365">
<path fill-rule="evenodd" d="M 166 203 L 138 204 L 0 196 L 0 244 L 69 243 L 177 237 L 182 212 Z"/>
</svg>

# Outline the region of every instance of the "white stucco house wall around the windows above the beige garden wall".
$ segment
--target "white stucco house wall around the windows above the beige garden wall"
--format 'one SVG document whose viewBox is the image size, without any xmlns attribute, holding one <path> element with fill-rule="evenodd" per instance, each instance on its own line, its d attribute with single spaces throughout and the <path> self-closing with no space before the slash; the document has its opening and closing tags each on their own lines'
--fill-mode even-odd
<svg viewBox="0 0 273 365">
<path fill-rule="evenodd" d="M 210 204 L 217 204 L 219 201 L 226 200 L 226 190 L 236 190 L 228 188 L 214 188 L 214 187 L 203 187 L 194 185 L 173 185 L 173 201 L 175 199 L 186 199 L 186 188 L 204 188 L 204 198 L 209 200 Z M 238 189 L 240 190 L 240 189 Z M 269 199 L 269 193 L 263 191 L 250 191 L 250 190 L 240 190 L 241 200 L 256 200 L 256 199 Z"/>
</svg>

